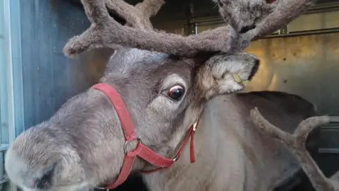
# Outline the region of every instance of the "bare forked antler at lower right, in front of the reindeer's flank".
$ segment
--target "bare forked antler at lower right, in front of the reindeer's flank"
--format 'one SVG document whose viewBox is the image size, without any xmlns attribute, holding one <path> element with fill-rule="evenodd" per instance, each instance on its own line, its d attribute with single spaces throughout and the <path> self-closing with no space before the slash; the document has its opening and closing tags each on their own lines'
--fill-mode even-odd
<svg viewBox="0 0 339 191">
<path fill-rule="evenodd" d="M 317 191 L 339 190 L 339 173 L 333 175 L 331 179 L 326 178 L 305 147 L 307 136 L 312 130 L 328 122 L 339 122 L 339 117 L 310 117 L 299 124 L 294 134 L 283 132 L 278 127 L 270 124 L 270 122 L 261 115 L 258 108 L 251 110 L 251 119 L 261 132 L 266 132 L 271 137 L 282 141 L 283 144 L 295 154 L 300 166 L 302 166 L 302 169 Z"/>
</svg>

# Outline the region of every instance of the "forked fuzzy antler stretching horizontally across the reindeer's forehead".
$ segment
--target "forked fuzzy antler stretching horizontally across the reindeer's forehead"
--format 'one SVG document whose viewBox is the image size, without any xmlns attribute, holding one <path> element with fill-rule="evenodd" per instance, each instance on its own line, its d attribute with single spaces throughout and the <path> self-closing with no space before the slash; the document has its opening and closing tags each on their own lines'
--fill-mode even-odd
<svg viewBox="0 0 339 191">
<path fill-rule="evenodd" d="M 95 47 L 126 46 L 180 56 L 193 56 L 198 52 L 227 52 L 231 47 L 232 30 L 228 33 L 229 27 L 210 30 L 207 38 L 195 35 L 183 37 L 152 30 L 149 18 L 159 11 L 163 0 L 145 0 L 136 6 L 122 0 L 81 2 L 92 25 L 67 42 L 64 53 L 69 57 Z M 106 6 L 125 18 L 128 25 L 120 25 L 110 17 Z"/>
</svg>

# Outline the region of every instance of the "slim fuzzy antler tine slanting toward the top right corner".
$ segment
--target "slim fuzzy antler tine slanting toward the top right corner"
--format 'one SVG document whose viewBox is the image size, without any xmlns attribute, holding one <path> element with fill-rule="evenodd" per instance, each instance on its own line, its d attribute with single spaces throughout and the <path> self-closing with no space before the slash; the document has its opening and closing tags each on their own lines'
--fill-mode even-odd
<svg viewBox="0 0 339 191">
<path fill-rule="evenodd" d="M 273 33 L 284 25 L 300 16 L 313 6 L 316 0 L 278 0 L 272 4 L 272 12 L 269 13 L 254 30 L 250 30 L 252 39 Z"/>
</svg>

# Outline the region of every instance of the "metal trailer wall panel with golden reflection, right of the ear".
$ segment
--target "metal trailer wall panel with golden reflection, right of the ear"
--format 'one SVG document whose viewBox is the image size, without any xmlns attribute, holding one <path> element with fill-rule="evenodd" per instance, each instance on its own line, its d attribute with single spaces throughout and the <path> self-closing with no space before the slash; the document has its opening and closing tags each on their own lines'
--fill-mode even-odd
<svg viewBox="0 0 339 191">
<path fill-rule="evenodd" d="M 276 37 L 245 50 L 261 66 L 244 91 L 284 91 L 314 103 L 320 115 L 339 115 L 339 33 Z M 321 152 L 339 153 L 339 127 L 326 125 Z"/>
</svg>

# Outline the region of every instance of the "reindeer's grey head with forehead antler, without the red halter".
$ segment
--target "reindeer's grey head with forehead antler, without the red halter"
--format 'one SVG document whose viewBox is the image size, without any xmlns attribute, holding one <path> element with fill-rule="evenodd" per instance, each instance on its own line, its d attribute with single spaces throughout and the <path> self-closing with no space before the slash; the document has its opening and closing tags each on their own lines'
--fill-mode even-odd
<svg viewBox="0 0 339 191">
<path fill-rule="evenodd" d="M 121 0 L 82 2 L 92 25 L 68 42 L 65 53 L 115 50 L 100 81 L 119 93 L 142 143 L 167 158 L 174 158 L 208 99 L 242 90 L 242 81 L 258 69 L 254 55 L 230 51 L 244 36 L 229 26 L 189 37 L 153 30 L 149 17 L 162 0 L 136 6 Z M 126 25 L 114 21 L 106 7 L 125 18 Z M 90 88 L 51 119 L 20 134 L 8 149 L 5 168 L 24 191 L 85 190 L 115 180 L 124 144 L 117 110 L 104 93 Z M 132 171 L 152 167 L 136 158 Z"/>
</svg>

